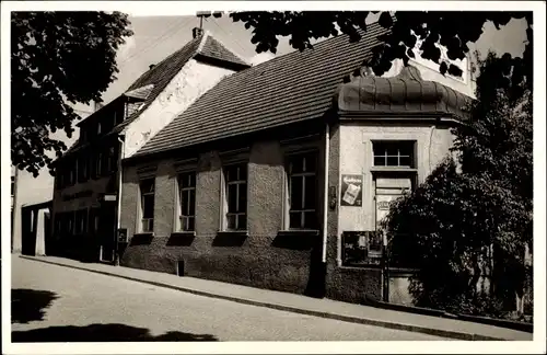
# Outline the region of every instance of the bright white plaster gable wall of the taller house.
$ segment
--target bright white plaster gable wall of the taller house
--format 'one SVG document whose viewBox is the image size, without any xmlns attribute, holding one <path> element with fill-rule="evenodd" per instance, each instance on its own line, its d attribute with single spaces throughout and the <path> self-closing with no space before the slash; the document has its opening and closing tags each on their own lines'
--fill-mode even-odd
<svg viewBox="0 0 547 355">
<path fill-rule="evenodd" d="M 139 118 L 126 128 L 124 158 L 135 154 L 196 99 L 232 72 L 190 59 Z"/>
</svg>

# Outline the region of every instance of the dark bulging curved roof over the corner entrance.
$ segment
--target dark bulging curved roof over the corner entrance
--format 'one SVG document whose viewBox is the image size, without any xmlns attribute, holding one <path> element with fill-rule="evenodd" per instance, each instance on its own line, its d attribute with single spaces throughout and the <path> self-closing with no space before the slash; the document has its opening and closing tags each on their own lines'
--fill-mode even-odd
<svg viewBox="0 0 547 355">
<path fill-rule="evenodd" d="M 353 114 L 442 114 L 465 118 L 470 98 L 452 88 L 421 78 L 408 66 L 395 77 L 375 77 L 363 68 L 351 82 L 340 85 L 334 96 L 338 111 Z"/>
</svg>

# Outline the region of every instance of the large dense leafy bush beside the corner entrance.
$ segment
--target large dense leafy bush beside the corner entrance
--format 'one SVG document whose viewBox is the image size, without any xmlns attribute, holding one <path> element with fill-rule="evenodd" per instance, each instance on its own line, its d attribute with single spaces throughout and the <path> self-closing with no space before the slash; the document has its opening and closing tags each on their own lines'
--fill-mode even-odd
<svg viewBox="0 0 547 355">
<path fill-rule="evenodd" d="M 508 57 L 490 53 L 479 66 L 473 119 L 453 130 L 457 161 L 446 158 L 398 199 L 384 227 L 391 257 L 419 270 L 410 287 L 417 305 L 496 314 L 514 306 L 531 272 L 523 257 L 533 238 L 532 93 L 508 80 L 515 70 Z"/>
</svg>

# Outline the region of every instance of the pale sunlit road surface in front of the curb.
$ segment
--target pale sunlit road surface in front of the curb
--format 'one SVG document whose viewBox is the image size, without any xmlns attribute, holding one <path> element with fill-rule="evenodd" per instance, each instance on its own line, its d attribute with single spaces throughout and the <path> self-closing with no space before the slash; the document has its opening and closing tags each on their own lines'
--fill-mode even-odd
<svg viewBox="0 0 547 355">
<path fill-rule="evenodd" d="M 409 340 L 445 339 L 12 261 L 12 342 Z"/>
</svg>

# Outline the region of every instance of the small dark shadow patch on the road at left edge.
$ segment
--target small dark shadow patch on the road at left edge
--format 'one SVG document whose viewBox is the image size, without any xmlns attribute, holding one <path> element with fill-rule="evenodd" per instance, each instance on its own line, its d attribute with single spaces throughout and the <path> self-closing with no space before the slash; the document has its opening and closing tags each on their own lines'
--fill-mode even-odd
<svg viewBox="0 0 547 355">
<path fill-rule="evenodd" d="M 46 313 L 44 310 L 57 298 L 57 294 L 46 290 L 12 289 L 11 322 L 28 323 L 43 320 Z"/>
</svg>

